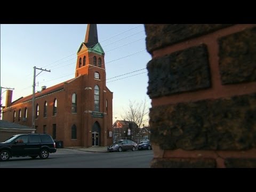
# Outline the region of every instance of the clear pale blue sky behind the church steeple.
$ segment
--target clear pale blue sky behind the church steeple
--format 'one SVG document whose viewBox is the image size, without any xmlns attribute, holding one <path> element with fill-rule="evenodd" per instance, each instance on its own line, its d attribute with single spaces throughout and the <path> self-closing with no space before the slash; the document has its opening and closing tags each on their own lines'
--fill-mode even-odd
<svg viewBox="0 0 256 192">
<path fill-rule="evenodd" d="M 34 66 L 51 70 L 36 76 L 36 91 L 44 85 L 51 87 L 74 78 L 76 53 L 84 41 L 86 27 L 87 24 L 1 25 L 1 86 L 15 89 L 12 101 L 33 93 Z M 114 93 L 114 123 L 115 117 L 121 119 L 129 100 L 146 99 L 148 108 L 151 107 L 145 69 L 151 56 L 146 51 L 143 25 L 98 24 L 97 28 L 98 40 L 105 51 L 107 87 Z M 39 72 L 36 70 L 36 74 Z M 5 90 L 2 90 L 3 106 Z"/>
</svg>

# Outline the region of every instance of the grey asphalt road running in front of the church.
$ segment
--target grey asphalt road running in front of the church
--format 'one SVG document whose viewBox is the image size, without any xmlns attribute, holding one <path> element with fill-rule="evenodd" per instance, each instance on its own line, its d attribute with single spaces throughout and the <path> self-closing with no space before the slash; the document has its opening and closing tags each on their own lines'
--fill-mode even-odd
<svg viewBox="0 0 256 192">
<path fill-rule="evenodd" d="M 92 153 L 58 149 L 48 159 L 13 157 L 0 168 L 149 168 L 153 150 Z"/>
</svg>

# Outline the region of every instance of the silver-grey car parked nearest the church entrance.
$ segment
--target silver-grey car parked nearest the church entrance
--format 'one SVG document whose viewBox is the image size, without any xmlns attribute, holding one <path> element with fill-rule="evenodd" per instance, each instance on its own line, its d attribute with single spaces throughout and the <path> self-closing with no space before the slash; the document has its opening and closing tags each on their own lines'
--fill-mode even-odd
<svg viewBox="0 0 256 192">
<path fill-rule="evenodd" d="M 132 150 L 135 151 L 138 148 L 137 143 L 128 140 L 128 139 L 124 139 L 124 140 L 118 140 L 116 142 L 114 142 L 113 145 L 108 146 L 108 151 L 125 151 L 125 150 Z"/>
</svg>

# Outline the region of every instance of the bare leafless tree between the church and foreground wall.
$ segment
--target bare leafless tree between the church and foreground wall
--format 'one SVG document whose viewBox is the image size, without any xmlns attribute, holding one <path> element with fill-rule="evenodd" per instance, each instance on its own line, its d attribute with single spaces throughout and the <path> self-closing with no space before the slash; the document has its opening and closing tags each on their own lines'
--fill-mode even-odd
<svg viewBox="0 0 256 192">
<path fill-rule="evenodd" d="M 149 107 L 146 98 L 141 102 L 129 100 L 129 108 L 124 109 L 124 115 L 121 115 L 125 121 L 134 122 L 138 125 L 135 133 L 139 133 L 139 128 L 148 122 Z"/>
</svg>

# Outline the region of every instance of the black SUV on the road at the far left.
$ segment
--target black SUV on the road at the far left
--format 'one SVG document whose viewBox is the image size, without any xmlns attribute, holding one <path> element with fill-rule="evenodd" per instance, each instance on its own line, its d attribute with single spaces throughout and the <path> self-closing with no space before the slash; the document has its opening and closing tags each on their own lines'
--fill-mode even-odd
<svg viewBox="0 0 256 192">
<path fill-rule="evenodd" d="M 0 161 L 7 161 L 10 157 L 30 156 L 42 159 L 57 151 L 55 142 L 49 134 L 17 134 L 0 143 Z"/>
</svg>

